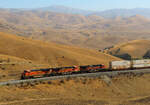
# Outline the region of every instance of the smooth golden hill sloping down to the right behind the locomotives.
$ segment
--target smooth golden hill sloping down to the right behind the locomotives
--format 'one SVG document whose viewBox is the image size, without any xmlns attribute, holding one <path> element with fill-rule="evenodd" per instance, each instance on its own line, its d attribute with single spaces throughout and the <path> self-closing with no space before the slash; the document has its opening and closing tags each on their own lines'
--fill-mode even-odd
<svg viewBox="0 0 150 105">
<path fill-rule="evenodd" d="M 44 43 L 2 32 L 0 33 L 0 46 L 0 54 L 51 66 L 107 64 L 111 60 L 118 59 L 95 50 Z"/>
</svg>

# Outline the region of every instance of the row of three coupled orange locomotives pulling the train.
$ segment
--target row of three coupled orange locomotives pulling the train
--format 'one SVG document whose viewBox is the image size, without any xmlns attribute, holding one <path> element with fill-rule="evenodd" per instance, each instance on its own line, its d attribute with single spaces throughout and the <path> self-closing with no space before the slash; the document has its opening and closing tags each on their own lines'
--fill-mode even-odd
<svg viewBox="0 0 150 105">
<path fill-rule="evenodd" d="M 66 75 L 83 72 L 94 72 L 105 69 L 103 64 L 100 65 L 87 65 L 87 66 L 72 66 L 61 68 L 48 68 L 38 70 L 25 70 L 22 73 L 21 79 L 42 78 L 55 75 Z"/>
</svg>

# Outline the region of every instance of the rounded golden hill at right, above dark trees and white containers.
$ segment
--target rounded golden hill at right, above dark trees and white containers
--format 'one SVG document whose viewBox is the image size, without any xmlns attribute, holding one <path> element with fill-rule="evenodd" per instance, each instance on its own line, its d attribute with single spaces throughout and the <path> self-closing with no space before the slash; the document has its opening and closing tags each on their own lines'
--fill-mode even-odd
<svg viewBox="0 0 150 105">
<path fill-rule="evenodd" d="M 130 55 L 132 58 L 143 58 L 150 50 L 150 40 L 134 40 L 119 44 L 108 50 L 108 53 L 116 56 Z"/>
</svg>

